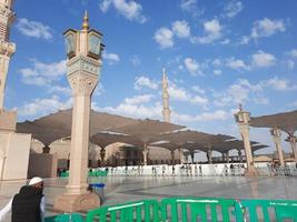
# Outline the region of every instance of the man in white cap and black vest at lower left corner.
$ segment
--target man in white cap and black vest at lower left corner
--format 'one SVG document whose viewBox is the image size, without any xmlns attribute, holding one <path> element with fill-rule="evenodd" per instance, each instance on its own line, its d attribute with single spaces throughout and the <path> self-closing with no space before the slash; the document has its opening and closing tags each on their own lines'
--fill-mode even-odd
<svg viewBox="0 0 297 222">
<path fill-rule="evenodd" d="M 44 195 L 41 178 L 32 178 L 0 211 L 0 221 L 11 211 L 11 222 L 43 222 Z"/>
</svg>

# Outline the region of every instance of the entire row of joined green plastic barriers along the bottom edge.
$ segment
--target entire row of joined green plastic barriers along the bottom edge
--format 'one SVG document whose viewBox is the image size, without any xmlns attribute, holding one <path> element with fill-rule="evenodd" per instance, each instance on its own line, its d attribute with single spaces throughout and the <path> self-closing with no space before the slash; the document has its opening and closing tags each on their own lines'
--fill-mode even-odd
<svg viewBox="0 0 297 222">
<path fill-rule="evenodd" d="M 46 222 L 297 222 L 297 201 L 171 198 L 106 205 L 87 213 L 61 214 Z"/>
</svg>

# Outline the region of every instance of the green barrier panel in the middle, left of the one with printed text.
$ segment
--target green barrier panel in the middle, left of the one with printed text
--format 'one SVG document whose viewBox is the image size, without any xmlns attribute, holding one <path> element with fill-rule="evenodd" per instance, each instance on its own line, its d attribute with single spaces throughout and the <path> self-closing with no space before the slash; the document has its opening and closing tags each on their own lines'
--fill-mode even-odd
<svg viewBox="0 0 297 222">
<path fill-rule="evenodd" d="M 161 201 L 161 219 L 171 222 L 222 221 L 229 222 L 234 215 L 236 200 L 216 198 L 175 198 Z M 210 212 L 210 214 L 208 214 Z M 218 216 L 220 219 L 218 219 Z M 198 220 L 200 219 L 200 220 Z M 234 221 L 234 220 L 232 220 Z"/>
</svg>

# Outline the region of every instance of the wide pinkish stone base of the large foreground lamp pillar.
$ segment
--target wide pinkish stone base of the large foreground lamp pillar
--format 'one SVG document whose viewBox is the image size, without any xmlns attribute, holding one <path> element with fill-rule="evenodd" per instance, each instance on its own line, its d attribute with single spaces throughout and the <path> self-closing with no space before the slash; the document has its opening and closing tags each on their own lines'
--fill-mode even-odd
<svg viewBox="0 0 297 222">
<path fill-rule="evenodd" d="M 100 206 L 100 199 L 95 193 L 68 194 L 63 193 L 56 198 L 53 209 L 60 212 L 78 212 Z"/>
</svg>

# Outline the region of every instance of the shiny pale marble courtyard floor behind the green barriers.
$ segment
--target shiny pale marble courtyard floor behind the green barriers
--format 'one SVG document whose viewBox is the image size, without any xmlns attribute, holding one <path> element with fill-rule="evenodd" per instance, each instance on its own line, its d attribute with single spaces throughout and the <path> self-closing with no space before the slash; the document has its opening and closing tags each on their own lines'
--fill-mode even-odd
<svg viewBox="0 0 297 222">
<path fill-rule="evenodd" d="M 242 176 L 108 176 L 92 178 L 90 182 L 106 184 L 105 204 L 117 204 L 142 199 L 168 196 L 221 196 L 236 199 L 297 200 L 297 178 Z M 0 182 L 0 209 L 19 191 L 26 181 Z M 67 179 L 44 179 L 47 215 L 51 215 L 53 200 L 65 192 Z M 9 215 L 7 216 L 9 220 Z"/>
</svg>

